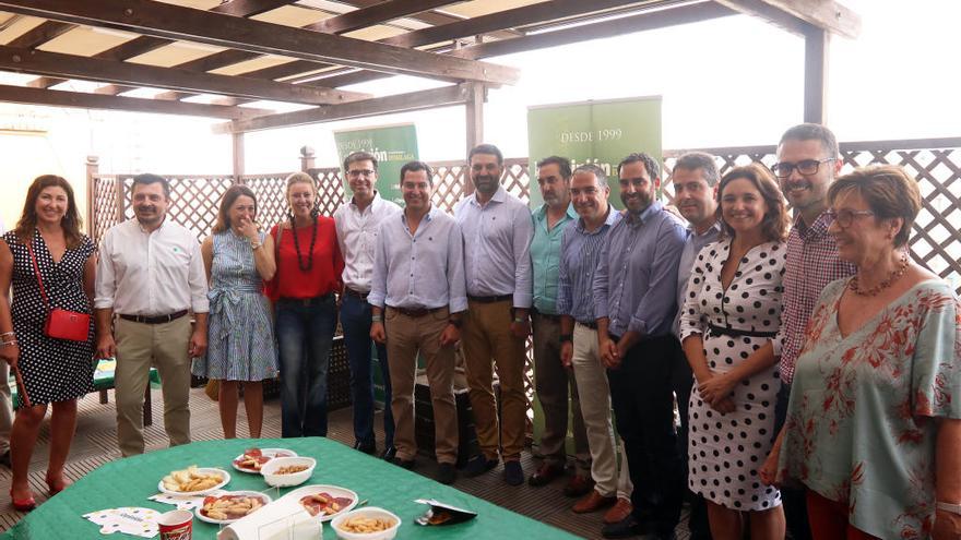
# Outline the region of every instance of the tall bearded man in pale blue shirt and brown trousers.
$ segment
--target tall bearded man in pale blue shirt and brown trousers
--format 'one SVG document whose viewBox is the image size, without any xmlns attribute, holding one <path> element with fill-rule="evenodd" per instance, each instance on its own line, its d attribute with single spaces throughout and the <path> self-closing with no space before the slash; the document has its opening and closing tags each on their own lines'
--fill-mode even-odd
<svg viewBox="0 0 961 540">
<path fill-rule="evenodd" d="M 497 146 L 475 146 L 467 161 L 475 191 L 458 203 L 454 216 L 464 235 L 470 312 L 463 346 L 480 454 L 471 459 L 464 473 L 473 477 L 497 467 L 500 447 L 505 481 L 520 485 L 524 482 L 520 461 L 527 412 L 524 340 L 531 333 L 534 226 L 527 206 L 500 185 L 503 155 Z M 495 367 L 500 381 L 500 425 L 494 398 Z"/>
</svg>

